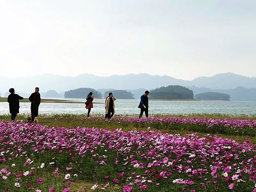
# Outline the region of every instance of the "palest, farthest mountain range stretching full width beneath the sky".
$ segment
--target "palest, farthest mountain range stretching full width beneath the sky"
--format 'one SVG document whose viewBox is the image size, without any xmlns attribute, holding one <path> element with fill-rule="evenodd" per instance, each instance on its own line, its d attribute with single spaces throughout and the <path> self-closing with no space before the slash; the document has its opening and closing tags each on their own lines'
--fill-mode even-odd
<svg viewBox="0 0 256 192">
<path fill-rule="evenodd" d="M 110 77 L 99 77 L 92 74 L 81 74 L 76 77 L 60 76 L 53 74 L 43 74 L 28 78 L 9 78 L 0 76 L 0 90 L 8 91 L 13 87 L 18 92 L 34 92 L 35 87 L 39 87 L 41 92 L 55 90 L 76 89 L 79 87 L 92 87 L 94 89 L 136 90 L 141 87 L 145 89 L 155 89 L 168 85 L 209 87 L 211 89 L 234 89 L 237 86 L 245 88 L 256 88 L 256 78 L 236 75 L 234 73 L 217 74 L 212 77 L 198 77 L 192 81 L 175 79 L 170 76 L 142 74 L 113 75 Z M 143 94 L 143 93 L 142 93 Z M 230 95 L 231 96 L 231 95 Z"/>
</svg>

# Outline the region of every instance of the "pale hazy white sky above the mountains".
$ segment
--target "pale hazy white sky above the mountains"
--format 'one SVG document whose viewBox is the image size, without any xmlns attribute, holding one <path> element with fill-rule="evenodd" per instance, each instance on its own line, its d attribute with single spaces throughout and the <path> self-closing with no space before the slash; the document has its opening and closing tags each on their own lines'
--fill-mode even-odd
<svg viewBox="0 0 256 192">
<path fill-rule="evenodd" d="M 255 0 L 0 0 L 0 76 L 256 76 Z"/>
</svg>

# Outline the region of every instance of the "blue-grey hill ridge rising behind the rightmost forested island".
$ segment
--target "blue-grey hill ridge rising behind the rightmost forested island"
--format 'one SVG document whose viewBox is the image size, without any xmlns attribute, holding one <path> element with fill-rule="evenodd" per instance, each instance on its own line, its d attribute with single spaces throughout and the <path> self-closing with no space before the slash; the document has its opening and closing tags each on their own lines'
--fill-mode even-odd
<svg viewBox="0 0 256 192">
<path fill-rule="evenodd" d="M 235 89 L 210 89 L 206 87 L 188 86 L 194 95 L 204 92 L 219 92 L 230 95 L 231 101 L 256 101 L 256 88 L 236 87 Z"/>
</svg>

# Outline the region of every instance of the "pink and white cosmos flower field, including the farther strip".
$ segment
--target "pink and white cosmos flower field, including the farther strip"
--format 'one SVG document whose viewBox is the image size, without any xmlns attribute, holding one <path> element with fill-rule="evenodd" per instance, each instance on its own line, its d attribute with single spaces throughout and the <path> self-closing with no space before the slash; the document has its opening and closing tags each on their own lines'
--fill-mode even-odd
<svg viewBox="0 0 256 192">
<path fill-rule="evenodd" d="M 256 145 L 250 140 L 155 130 L 189 124 L 253 133 L 255 120 L 152 117 L 91 121 L 152 124 L 154 129 L 124 132 L 0 121 L 0 192 L 256 191 Z M 93 184 L 75 187 L 81 181 Z"/>
</svg>

